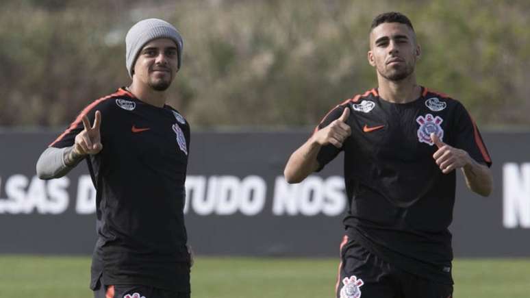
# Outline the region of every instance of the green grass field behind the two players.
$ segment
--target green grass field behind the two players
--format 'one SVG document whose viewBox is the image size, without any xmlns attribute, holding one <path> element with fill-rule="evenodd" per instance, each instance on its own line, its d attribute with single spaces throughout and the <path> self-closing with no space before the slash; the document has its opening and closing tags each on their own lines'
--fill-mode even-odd
<svg viewBox="0 0 530 298">
<path fill-rule="evenodd" d="M 197 258 L 194 298 L 333 297 L 336 259 Z M 0 256 L 0 298 L 91 298 L 90 258 Z M 530 297 L 530 259 L 459 259 L 455 297 Z"/>
</svg>

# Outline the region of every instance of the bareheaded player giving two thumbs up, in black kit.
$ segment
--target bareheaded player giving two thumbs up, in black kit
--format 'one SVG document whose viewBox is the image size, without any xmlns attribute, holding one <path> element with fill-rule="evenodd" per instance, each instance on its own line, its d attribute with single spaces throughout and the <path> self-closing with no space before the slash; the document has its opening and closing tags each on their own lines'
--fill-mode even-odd
<svg viewBox="0 0 530 298">
<path fill-rule="evenodd" d="M 416 84 L 420 53 L 407 16 L 377 16 L 368 62 L 379 86 L 331 110 L 286 165 L 298 183 L 344 151 L 337 297 L 450 298 L 455 170 L 473 192 L 492 191 L 490 156 L 462 103 Z"/>
</svg>

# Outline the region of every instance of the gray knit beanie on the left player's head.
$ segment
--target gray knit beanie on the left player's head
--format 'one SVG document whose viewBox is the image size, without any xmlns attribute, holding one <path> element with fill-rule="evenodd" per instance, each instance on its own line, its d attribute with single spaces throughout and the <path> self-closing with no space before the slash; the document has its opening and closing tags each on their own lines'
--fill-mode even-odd
<svg viewBox="0 0 530 298">
<path fill-rule="evenodd" d="M 162 21 L 159 18 L 147 18 L 136 23 L 125 36 L 125 47 L 127 48 L 125 53 L 125 62 L 127 64 L 127 72 L 132 77 L 134 71 L 134 63 L 138 58 L 138 53 L 144 47 L 147 42 L 157 38 L 169 38 L 177 45 L 177 61 L 178 69 L 180 69 L 182 48 L 184 42 L 179 32 L 173 25 L 166 21 Z"/>
</svg>

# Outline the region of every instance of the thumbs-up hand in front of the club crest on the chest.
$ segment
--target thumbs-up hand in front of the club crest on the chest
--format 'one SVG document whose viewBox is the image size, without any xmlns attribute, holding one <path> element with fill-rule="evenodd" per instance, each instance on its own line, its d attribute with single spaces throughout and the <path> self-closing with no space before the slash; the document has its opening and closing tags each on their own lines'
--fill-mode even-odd
<svg viewBox="0 0 530 298">
<path fill-rule="evenodd" d="M 436 164 L 440 166 L 442 173 L 451 173 L 454 169 L 462 168 L 471 163 L 471 158 L 466 151 L 447 145 L 436 134 L 431 134 L 431 140 L 438 147 L 433 158 Z"/>
</svg>

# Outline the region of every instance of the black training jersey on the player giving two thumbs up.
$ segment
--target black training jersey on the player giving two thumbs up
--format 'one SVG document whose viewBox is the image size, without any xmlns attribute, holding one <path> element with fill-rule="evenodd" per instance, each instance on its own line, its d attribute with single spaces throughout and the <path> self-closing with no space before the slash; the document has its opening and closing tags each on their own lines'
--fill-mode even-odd
<svg viewBox="0 0 530 298">
<path fill-rule="evenodd" d="M 347 232 L 405 271 L 452 283 L 455 171 L 440 171 L 430 134 L 490 166 L 477 125 L 462 103 L 427 88 L 409 103 L 390 103 L 373 89 L 331 110 L 316 130 L 344 108 L 351 136 L 341 149 L 322 147 L 317 160 L 323 167 L 344 151 Z"/>
</svg>

